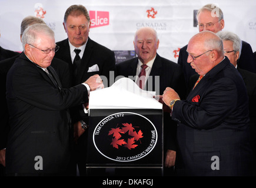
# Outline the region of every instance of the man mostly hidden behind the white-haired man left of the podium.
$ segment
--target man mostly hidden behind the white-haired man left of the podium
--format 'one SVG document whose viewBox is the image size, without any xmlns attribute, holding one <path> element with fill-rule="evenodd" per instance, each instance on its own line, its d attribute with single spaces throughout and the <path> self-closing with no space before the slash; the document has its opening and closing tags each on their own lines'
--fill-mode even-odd
<svg viewBox="0 0 256 188">
<path fill-rule="evenodd" d="M 21 38 L 22 34 L 25 31 L 25 29 L 29 25 L 33 24 L 45 24 L 45 22 L 36 16 L 26 16 L 22 22 L 21 22 Z M 1 100 L 1 115 L 0 115 L 0 160 L 1 161 L 1 168 L 3 169 L 3 173 L 1 173 L 1 176 L 4 176 L 5 171 L 5 148 L 7 143 L 7 137 L 9 133 L 9 113 L 6 105 L 6 75 L 11 68 L 11 66 L 14 64 L 15 59 L 18 58 L 20 54 L 13 56 L 12 58 L 4 59 L 3 61 L 0 61 L 0 84 L 2 86 L 1 92 L 0 92 L 0 100 Z M 68 69 L 68 63 L 63 62 L 61 59 L 53 58 L 51 62 L 51 66 L 55 69 L 56 73 L 59 76 L 59 79 L 61 80 L 62 88 L 69 88 L 71 86 L 70 81 L 70 75 L 69 75 L 69 69 Z"/>
</svg>

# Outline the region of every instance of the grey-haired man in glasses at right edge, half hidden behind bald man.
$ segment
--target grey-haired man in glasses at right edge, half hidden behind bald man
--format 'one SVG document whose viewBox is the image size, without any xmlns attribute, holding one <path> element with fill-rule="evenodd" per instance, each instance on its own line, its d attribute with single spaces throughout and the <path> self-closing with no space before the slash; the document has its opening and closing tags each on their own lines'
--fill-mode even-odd
<svg viewBox="0 0 256 188">
<path fill-rule="evenodd" d="M 230 59 L 232 65 L 237 68 L 244 80 L 249 98 L 249 116 L 250 116 L 250 140 L 252 152 L 254 154 L 253 173 L 256 174 L 256 74 L 237 66 L 237 61 L 241 53 L 241 39 L 235 33 L 219 31 L 218 36 L 222 39 L 224 54 Z"/>
</svg>

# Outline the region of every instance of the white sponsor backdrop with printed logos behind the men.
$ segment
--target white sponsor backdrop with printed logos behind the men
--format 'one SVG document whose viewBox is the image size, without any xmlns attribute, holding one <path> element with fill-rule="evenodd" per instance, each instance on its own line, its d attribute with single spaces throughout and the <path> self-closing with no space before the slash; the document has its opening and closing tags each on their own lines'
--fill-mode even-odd
<svg viewBox="0 0 256 188">
<path fill-rule="evenodd" d="M 62 22 L 66 9 L 73 4 L 91 11 L 94 27 L 89 36 L 94 41 L 113 51 L 134 51 L 135 31 L 152 26 L 158 32 L 159 55 L 174 62 L 179 48 L 198 32 L 193 26 L 194 10 L 217 4 L 224 12 L 224 30 L 237 33 L 256 51 L 256 1 L 251 0 L 0 0 L 0 45 L 22 51 L 20 24 L 28 15 L 43 17 L 54 30 L 56 42 L 67 38 Z"/>
</svg>

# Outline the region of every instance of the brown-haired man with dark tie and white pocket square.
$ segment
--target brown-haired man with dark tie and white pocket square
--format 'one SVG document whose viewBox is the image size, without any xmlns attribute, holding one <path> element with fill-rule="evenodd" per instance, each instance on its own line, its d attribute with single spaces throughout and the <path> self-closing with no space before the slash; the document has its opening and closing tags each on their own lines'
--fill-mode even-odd
<svg viewBox="0 0 256 188">
<path fill-rule="evenodd" d="M 82 5 L 69 6 L 65 12 L 63 25 L 68 38 L 56 43 L 59 51 L 56 52 L 55 57 L 68 63 L 72 86 L 84 82 L 95 74 L 101 75 L 104 85 L 109 86 L 111 71 L 114 76 L 115 55 L 110 49 L 89 38 L 91 20 L 87 9 Z M 76 56 L 77 50 L 79 53 Z M 88 116 L 82 116 L 79 113 L 81 111 L 83 112 L 81 106 L 71 109 L 74 135 L 77 135 L 77 129 L 82 124 L 88 123 Z M 74 157 L 80 176 L 86 175 L 86 147 L 87 131 L 75 143 Z"/>
</svg>

